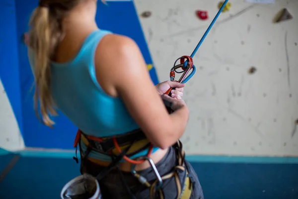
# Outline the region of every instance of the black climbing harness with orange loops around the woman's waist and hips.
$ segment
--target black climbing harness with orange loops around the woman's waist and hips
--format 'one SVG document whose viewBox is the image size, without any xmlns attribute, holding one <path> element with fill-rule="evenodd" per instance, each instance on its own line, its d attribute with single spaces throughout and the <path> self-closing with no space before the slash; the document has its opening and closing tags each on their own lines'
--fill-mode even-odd
<svg viewBox="0 0 298 199">
<path fill-rule="evenodd" d="M 187 176 L 188 171 L 185 168 L 186 165 L 184 164 L 184 157 L 185 153 L 182 149 L 182 143 L 178 141 L 176 144 L 173 145 L 176 155 L 177 155 L 177 166 L 174 167 L 173 171 L 170 173 L 166 174 L 165 176 L 160 176 L 158 173 L 153 161 L 149 157 L 152 148 L 150 147 L 151 144 L 147 140 L 145 134 L 140 130 L 134 130 L 131 131 L 127 134 L 123 135 L 118 135 L 118 136 L 112 136 L 112 137 L 104 137 L 104 138 L 97 138 L 93 136 L 88 136 L 84 134 L 81 130 L 77 131 L 74 146 L 77 147 L 79 146 L 80 151 L 82 151 L 82 148 L 80 146 L 80 140 L 87 146 L 87 149 L 85 150 L 84 153 L 81 153 L 81 173 L 83 174 L 82 171 L 82 166 L 84 164 L 84 161 L 87 159 L 88 154 L 90 153 L 91 150 L 109 155 L 112 158 L 112 162 L 108 167 L 106 167 L 104 170 L 101 170 L 99 174 L 96 176 L 96 180 L 100 181 L 103 179 L 112 169 L 118 169 L 117 165 L 119 164 L 120 160 L 124 157 L 127 157 L 126 160 L 130 163 L 132 163 L 132 168 L 131 168 L 131 173 L 134 175 L 140 183 L 145 185 L 146 187 L 149 188 L 150 190 L 150 199 L 164 199 L 163 192 L 162 192 L 162 185 L 163 181 L 166 179 L 170 179 L 174 177 L 176 185 L 177 185 L 177 199 L 182 198 L 184 199 L 185 196 L 190 196 L 191 195 L 191 186 L 190 186 L 190 179 Z M 134 144 L 137 142 L 143 142 L 142 147 L 138 147 L 138 149 L 134 149 Z M 124 148 L 124 149 L 121 149 Z M 130 157 L 133 156 L 134 154 L 139 153 L 140 151 L 144 151 L 149 148 L 149 152 L 146 156 L 140 156 L 135 159 L 131 159 Z M 114 153 L 118 152 L 117 155 Z M 77 158 L 74 158 L 77 161 Z M 135 171 L 135 167 L 138 164 L 142 164 L 144 161 L 149 161 L 150 166 L 153 169 L 153 172 L 156 176 L 156 180 L 153 182 L 148 182 L 147 179 L 143 176 L 141 176 L 138 172 Z M 77 161 L 78 162 L 78 161 Z M 178 172 L 184 172 L 184 178 L 182 179 L 182 182 L 180 182 Z M 121 171 L 119 170 L 119 174 L 121 177 Z M 126 186 L 126 190 L 131 194 L 132 198 L 134 199 L 134 196 L 132 192 L 130 191 L 130 188 L 125 184 L 125 179 L 124 177 L 121 177 L 121 180 L 123 181 L 124 185 Z M 187 198 L 185 198 L 187 199 Z"/>
</svg>

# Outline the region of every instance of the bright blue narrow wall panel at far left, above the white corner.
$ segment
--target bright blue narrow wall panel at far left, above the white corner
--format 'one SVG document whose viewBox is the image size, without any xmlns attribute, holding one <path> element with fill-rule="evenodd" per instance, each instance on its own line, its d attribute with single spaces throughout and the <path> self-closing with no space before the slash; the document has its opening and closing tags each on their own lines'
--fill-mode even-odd
<svg viewBox="0 0 298 199">
<path fill-rule="evenodd" d="M 22 131 L 20 77 L 14 0 L 0 1 L 0 79 Z"/>
</svg>

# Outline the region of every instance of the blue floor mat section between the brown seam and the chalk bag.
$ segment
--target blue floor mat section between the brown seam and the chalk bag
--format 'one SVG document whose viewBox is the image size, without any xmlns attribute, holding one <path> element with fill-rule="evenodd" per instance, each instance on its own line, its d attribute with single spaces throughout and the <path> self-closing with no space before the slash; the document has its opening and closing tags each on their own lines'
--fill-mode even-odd
<svg viewBox="0 0 298 199">
<path fill-rule="evenodd" d="M 62 187 L 78 175 L 73 159 L 20 157 L 0 183 L 0 199 L 59 199 Z"/>
</svg>

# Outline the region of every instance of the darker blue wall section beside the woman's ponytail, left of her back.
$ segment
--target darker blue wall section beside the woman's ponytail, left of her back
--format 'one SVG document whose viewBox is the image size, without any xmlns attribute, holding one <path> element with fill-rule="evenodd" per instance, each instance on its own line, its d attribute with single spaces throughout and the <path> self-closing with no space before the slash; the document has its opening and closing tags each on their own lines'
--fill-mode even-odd
<svg viewBox="0 0 298 199">
<path fill-rule="evenodd" d="M 28 22 L 38 1 L 16 0 L 16 24 L 18 35 L 18 59 L 20 72 L 20 94 L 22 101 L 23 139 L 26 147 L 61 148 L 72 147 L 76 128 L 62 115 L 55 118 L 55 128 L 51 129 L 40 123 L 33 109 L 33 75 L 27 57 L 27 47 L 22 42 L 22 35 L 28 31 Z"/>
</svg>

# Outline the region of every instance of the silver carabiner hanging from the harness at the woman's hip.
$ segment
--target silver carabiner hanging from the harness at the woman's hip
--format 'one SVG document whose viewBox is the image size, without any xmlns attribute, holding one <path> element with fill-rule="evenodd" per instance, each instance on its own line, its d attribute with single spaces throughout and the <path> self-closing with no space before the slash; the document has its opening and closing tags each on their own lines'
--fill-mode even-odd
<svg viewBox="0 0 298 199">
<path fill-rule="evenodd" d="M 158 173 L 158 171 L 157 171 L 157 169 L 155 167 L 154 162 L 148 156 L 141 156 L 141 157 L 136 158 L 136 160 L 141 160 L 141 159 L 145 159 L 145 160 L 148 160 L 149 161 L 149 163 L 150 163 L 150 165 L 151 165 L 151 167 L 152 167 L 152 169 L 153 169 L 153 171 L 155 173 L 155 176 L 156 176 L 156 178 L 158 180 L 156 189 L 157 189 L 157 191 L 160 190 L 160 188 L 162 187 L 162 179 L 161 179 L 161 177 L 160 177 L 160 175 L 159 175 L 159 173 Z M 147 179 L 145 177 L 139 175 L 136 172 L 135 168 L 136 168 L 136 165 L 133 164 L 132 165 L 132 169 L 131 169 L 132 174 L 140 181 L 140 183 L 142 183 L 142 184 L 148 184 Z"/>
</svg>

